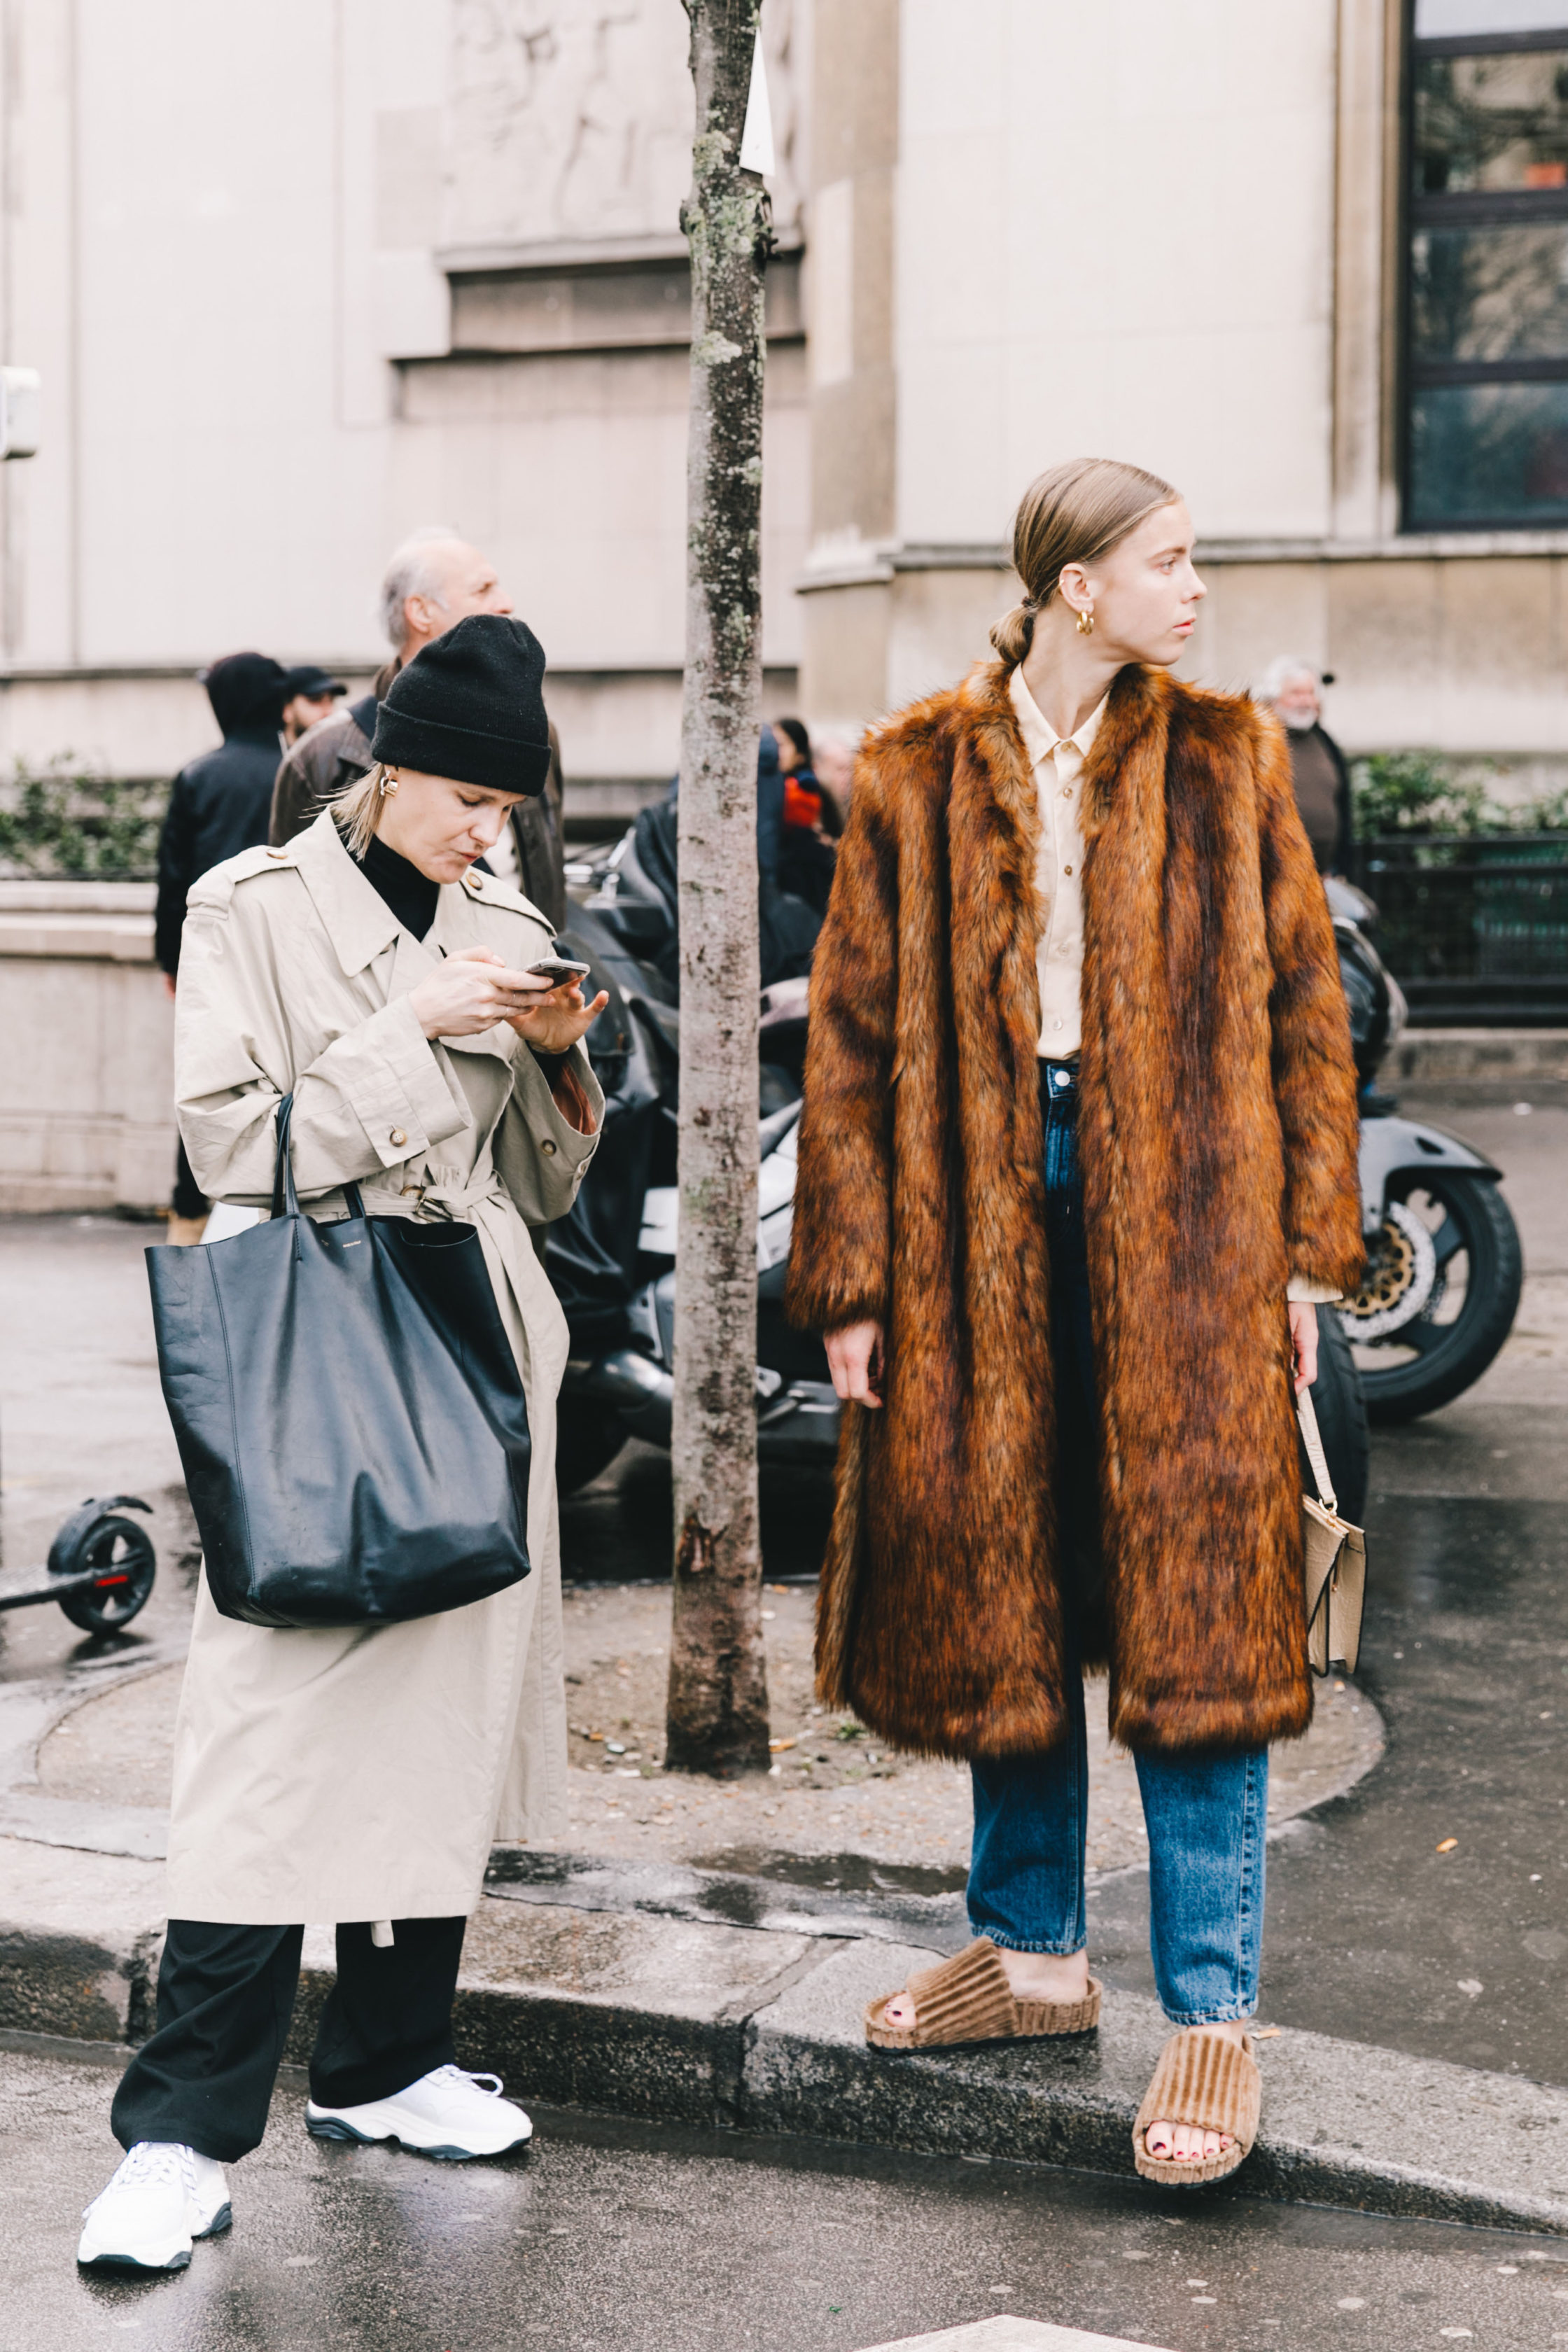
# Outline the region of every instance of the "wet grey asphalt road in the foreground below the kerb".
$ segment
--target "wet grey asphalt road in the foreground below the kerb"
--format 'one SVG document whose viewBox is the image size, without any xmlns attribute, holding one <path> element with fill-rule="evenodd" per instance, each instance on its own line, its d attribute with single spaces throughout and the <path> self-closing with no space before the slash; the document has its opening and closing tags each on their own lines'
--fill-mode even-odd
<svg viewBox="0 0 1568 2352">
<path fill-rule="evenodd" d="M 228 2237 L 80 2277 L 115 2065 L 0 2044 L 5 2352 L 858 2352 L 992 2312 L 1168 2352 L 1568 2343 L 1561 2239 L 571 2114 L 527 2159 L 421 2164 L 306 2138 L 299 2077 Z"/>
</svg>

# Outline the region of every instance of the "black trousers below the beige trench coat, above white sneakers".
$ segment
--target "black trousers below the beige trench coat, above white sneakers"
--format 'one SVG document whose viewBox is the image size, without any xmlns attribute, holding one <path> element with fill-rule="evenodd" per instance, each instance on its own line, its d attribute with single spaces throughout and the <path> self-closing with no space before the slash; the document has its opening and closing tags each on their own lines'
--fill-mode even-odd
<svg viewBox="0 0 1568 2352">
<path fill-rule="evenodd" d="M 310 2053 L 310 2098 L 360 2107 L 449 2065 L 451 1994 L 468 1919 L 339 1926 L 339 1980 Z M 158 2032 L 127 2065 L 110 2126 L 120 2147 L 176 2140 L 219 2164 L 261 2145 L 289 2039 L 303 1926 L 169 1919 L 158 1971 Z"/>
</svg>

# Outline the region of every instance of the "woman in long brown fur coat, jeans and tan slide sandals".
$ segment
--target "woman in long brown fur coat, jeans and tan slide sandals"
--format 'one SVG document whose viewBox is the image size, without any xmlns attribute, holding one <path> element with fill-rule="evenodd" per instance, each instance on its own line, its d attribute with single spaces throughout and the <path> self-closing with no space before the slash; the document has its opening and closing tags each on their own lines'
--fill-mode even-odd
<svg viewBox="0 0 1568 2352">
<path fill-rule="evenodd" d="M 811 976 L 790 1310 L 849 1402 L 818 1677 L 973 1773 L 976 1943 L 884 2049 L 1084 2032 L 1084 1670 L 1178 2027 L 1138 2171 L 1258 2129 L 1267 1745 L 1312 1715 L 1293 1385 L 1361 1263 L 1333 929 L 1279 724 L 1171 675 L 1168 482 L 1018 508 L 999 661 L 882 724 Z"/>
</svg>

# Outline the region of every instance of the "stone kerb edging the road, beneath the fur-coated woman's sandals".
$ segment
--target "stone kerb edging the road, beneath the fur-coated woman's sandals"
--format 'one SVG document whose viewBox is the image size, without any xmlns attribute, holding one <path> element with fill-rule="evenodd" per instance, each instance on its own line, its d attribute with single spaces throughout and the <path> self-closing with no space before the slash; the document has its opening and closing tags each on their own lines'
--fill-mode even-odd
<svg viewBox="0 0 1568 2352">
<path fill-rule="evenodd" d="M 7 1907 L 21 1898 L 31 1926 L 0 1931 L 2 2027 L 99 2044 L 148 2030 L 148 1867 L 99 1856 L 66 1872 L 56 1849 L 5 1849 Z M 642 1907 L 658 1889 L 637 1884 L 628 1907 L 583 1910 L 498 1882 L 463 1955 L 461 2063 L 524 2098 L 625 2117 L 1131 2173 L 1131 2122 L 1168 2034 L 1152 1999 L 1110 1990 L 1100 2032 L 1074 2042 L 886 2056 L 865 2046 L 865 2004 L 931 1945 L 792 1922 L 783 1889 L 759 1889 L 762 1924 L 733 1926 L 717 1912 L 748 1891 L 738 1877 L 698 1889 L 686 1915 Z M 313 1931 L 289 2042 L 301 2063 L 329 1983 Z M 1293 2030 L 1258 2053 L 1262 2133 L 1234 2192 L 1568 2234 L 1566 2091 Z"/>
</svg>

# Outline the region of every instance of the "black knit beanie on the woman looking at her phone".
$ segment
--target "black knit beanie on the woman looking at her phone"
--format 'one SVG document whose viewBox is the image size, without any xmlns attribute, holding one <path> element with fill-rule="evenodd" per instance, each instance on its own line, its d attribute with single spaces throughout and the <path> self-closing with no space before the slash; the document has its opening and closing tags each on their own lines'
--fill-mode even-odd
<svg viewBox="0 0 1568 2352">
<path fill-rule="evenodd" d="M 543 793 L 550 774 L 545 649 L 501 612 L 470 612 L 397 673 L 371 760 L 489 793 Z"/>
</svg>

